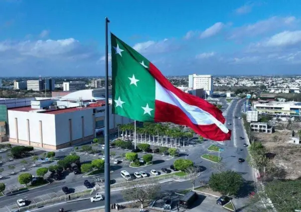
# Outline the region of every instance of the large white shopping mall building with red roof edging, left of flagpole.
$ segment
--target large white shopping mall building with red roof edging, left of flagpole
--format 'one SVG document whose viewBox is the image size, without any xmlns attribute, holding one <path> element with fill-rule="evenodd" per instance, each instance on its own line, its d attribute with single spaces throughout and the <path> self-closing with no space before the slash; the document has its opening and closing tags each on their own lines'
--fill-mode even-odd
<svg viewBox="0 0 301 212">
<path fill-rule="evenodd" d="M 16 104 L 20 99 L 0 100 L 0 126 L 5 126 L 0 141 L 61 149 L 92 140 L 105 129 L 105 101 L 98 97 L 97 90 L 77 91 L 61 98 L 34 98 L 22 104 Z M 110 99 L 110 132 L 116 131 L 118 124 L 133 122 L 112 114 L 111 104 Z"/>
</svg>

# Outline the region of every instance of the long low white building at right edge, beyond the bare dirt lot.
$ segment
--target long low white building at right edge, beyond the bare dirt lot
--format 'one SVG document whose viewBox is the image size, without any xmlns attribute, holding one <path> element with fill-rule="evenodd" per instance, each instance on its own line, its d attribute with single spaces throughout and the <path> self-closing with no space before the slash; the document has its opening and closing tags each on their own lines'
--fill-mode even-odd
<svg viewBox="0 0 301 212">
<path fill-rule="evenodd" d="M 301 115 L 301 102 L 255 102 L 253 108 L 257 110 L 259 114 Z"/>
</svg>

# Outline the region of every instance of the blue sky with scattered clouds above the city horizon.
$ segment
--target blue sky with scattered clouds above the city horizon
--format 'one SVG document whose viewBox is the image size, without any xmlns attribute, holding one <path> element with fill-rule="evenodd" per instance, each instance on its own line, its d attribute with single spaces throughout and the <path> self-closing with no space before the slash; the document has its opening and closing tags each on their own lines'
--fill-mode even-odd
<svg viewBox="0 0 301 212">
<path fill-rule="evenodd" d="M 0 0 L 1 76 L 103 76 L 104 17 L 164 75 L 300 74 L 300 0 Z"/>
</svg>

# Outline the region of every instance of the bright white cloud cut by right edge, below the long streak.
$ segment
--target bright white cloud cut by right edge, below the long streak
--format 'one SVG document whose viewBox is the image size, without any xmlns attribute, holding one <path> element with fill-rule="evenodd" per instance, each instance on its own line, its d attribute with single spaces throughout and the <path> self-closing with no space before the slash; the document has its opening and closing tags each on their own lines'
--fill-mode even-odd
<svg viewBox="0 0 301 212">
<path fill-rule="evenodd" d="M 286 47 L 301 43 L 301 30 L 298 31 L 283 31 L 273 35 L 263 45 L 268 47 Z"/>
</svg>

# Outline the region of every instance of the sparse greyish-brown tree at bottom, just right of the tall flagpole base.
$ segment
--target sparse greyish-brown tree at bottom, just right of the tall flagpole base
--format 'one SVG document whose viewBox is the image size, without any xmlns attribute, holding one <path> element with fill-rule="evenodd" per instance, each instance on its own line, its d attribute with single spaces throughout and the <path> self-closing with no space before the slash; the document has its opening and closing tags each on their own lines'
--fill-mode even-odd
<svg viewBox="0 0 301 212">
<path fill-rule="evenodd" d="M 152 182 L 132 181 L 128 183 L 127 189 L 121 191 L 126 201 L 138 200 L 144 204 L 148 200 L 155 200 L 161 192 L 159 184 Z"/>
</svg>

